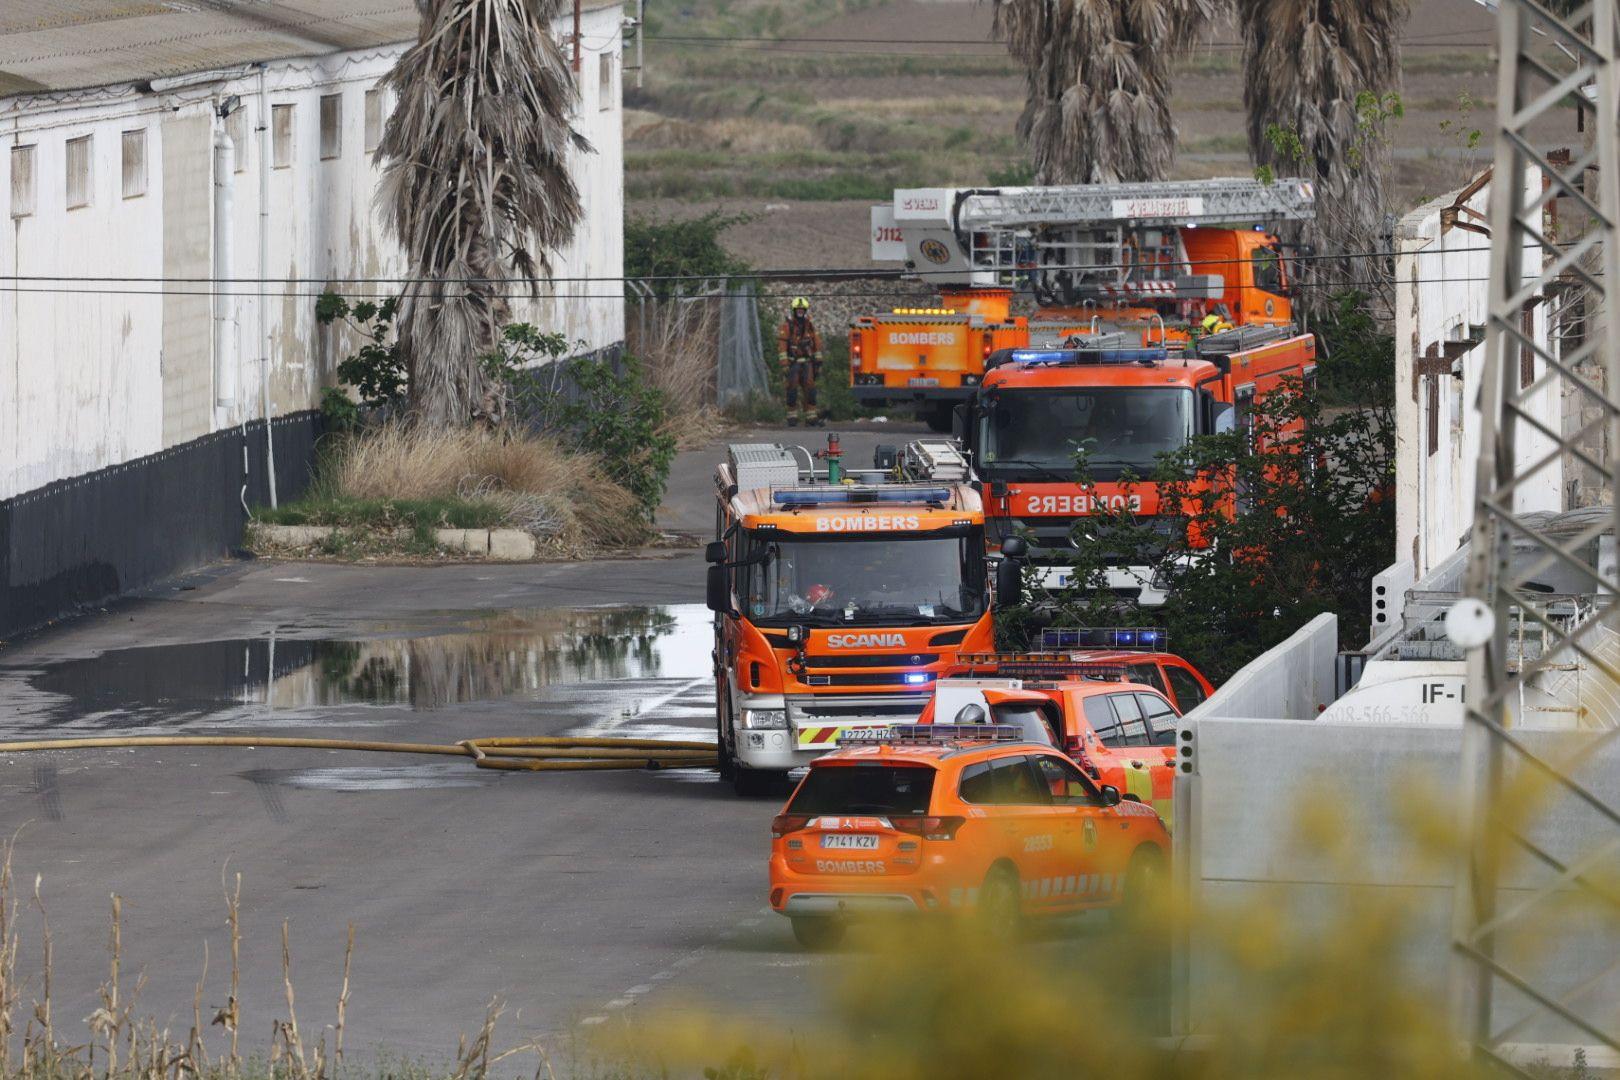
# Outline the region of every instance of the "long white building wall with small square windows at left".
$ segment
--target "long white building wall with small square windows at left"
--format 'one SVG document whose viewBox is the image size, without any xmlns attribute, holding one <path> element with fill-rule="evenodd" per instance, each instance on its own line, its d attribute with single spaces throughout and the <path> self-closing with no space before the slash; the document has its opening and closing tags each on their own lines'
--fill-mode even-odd
<svg viewBox="0 0 1620 1080">
<path fill-rule="evenodd" d="M 554 31 L 559 39 L 572 34 L 572 13 Z M 624 293 L 617 280 L 624 267 L 620 8 L 586 10 L 582 31 L 582 102 L 575 126 L 595 152 L 577 154 L 572 168 L 585 219 L 575 240 L 552 257 L 554 283 L 541 287 L 538 303 L 517 303 L 514 314 L 559 330 L 578 342 L 580 351 L 590 351 L 624 340 Z M 316 324 L 316 296 L 327 283 L 356 298 L 389 295 L 400 285 L 361 279 L 405 275 L 374 202 L 376 155 L 364 149 L 364 92 L 403 49 L 264 66 L 262 105 L 295 107 L 293 160 L 269 175 L 264 283 L 253 280 L 259 277 L 259 164 L 267 147 L 256 131 L 258 70 L 188 78 L 185 86 L 160 86 L 159 92 L 122 86 L 0 100 L 0 225 L 10 228 L 0 244 L 0 279 L 13 285 L 0 287 L 0 499 L 259 418 L 259 359 L 266 351 L 272 415 L 319 405 L 321 389 L 335 381 L 337 358 L 348 351 L 350 342 Z M 606 94 L 601 57 L 609 65 Z M 329 160 L 321 159 L 322 94 L 342 96 L 342 152 Z M 248 134 L 246 146 L 235 147 L 238 168 L 232 176 L 228 222 L 232 277 L 238 282 L 222 287 L 224 295 L 212 303 L 233 316 L 238 377 L 235 405 L 215 410 L 212 329 L 196 325 L 206 304 L 183 296 L 214 288 L 206 280 L 162 280 L 177 277 L 164 264 L 165 240 L 172 256 L 177 244 L 185 246 L 175 235 L 180 223 L 165 222 L 164 215 L 164 131 L 194 130 L 196 120 L 206 120 L 211 130 L 227 128 L 227 121 L 215 118 L 215 108 L 230 96 L 241 100 Z M 122 133 L 136 128 L 147 133 L 147 185 L 143 196 L 125 199 Z M 65 147 L 79 134 L 92 136 L 94 196 L 87 207 L 70 210 Z M 186 183 L 207 186 L 212 154 L 193 152 L 194 142 L 186 139 L 188 152 L 168 167 L 180 165 Z M 16 146 L 36 147 L 34 212 L 26 217 L 11 214 L 10 151 Z M 211 244 L 215 228 L 211 220 Z M 193 261 L 188 259 L 188 272 L 180 277 L 196 277 Z M 26 280 L 52 275 L 58 280 Z M 131 280 L 75 280 L 84 277 Z M 198 359 L 193 350 L 199 342 L 209 350 L 207 393 L 177 387 L 181 366 Z"/>
</svg>

